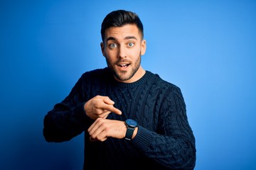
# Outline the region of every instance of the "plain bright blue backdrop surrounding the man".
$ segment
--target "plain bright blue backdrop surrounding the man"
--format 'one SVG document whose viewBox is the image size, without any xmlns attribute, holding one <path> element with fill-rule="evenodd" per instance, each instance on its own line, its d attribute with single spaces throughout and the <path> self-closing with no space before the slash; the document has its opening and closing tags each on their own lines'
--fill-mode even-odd
<svg viewBox="0 0 256 170">
<path fill-rule="evenodd" d="M 82 169 L 83 135 L 45 142 L 43 117 L 106 66 L 100 25 L 119 8 L 144 23 L 144 69 L 183 92 L 195 169 L 256 169 L 256 1 L 242 0 L 1 1 L 0 169 Z"/>
</svg>

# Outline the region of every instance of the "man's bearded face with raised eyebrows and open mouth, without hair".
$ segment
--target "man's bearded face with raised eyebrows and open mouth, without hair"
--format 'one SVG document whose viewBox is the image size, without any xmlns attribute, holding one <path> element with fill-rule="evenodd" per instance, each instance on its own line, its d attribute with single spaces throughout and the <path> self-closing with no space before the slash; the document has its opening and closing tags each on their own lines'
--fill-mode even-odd
<svg viewBox="0 0 256 170">
<path fill-rule="evenodd" d="M 146 41 L 142 40 L 136 25 L 108 28 L 101 48 L 117 81 L 131 83 L 143 76 L 144 69 L 140 63 L 146 52 Z"/>
</svg>

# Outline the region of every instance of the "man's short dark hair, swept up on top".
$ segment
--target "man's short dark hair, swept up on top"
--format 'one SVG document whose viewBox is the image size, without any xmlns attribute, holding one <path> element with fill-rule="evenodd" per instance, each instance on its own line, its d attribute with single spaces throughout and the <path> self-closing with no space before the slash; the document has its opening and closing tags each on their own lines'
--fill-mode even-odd
<svg viewBox="0 0 256 170">
<path fill-rule="evenodd" d="M 132 11 L 117 10 L 107 14 L 107 16 L 102 21 L 102 26 L 101 26 L 102 41 L 104 42 L 105 30 L 107 30 L 107 28 L 121 27 L 128 23 L 135 24 L 137 26 L 137 28 L 139 29 L 139 32 L 142 34 L 142 39 L 143 39 L 144 37 L 143 25 L 142 25 L 142 21 L 139 19 L 139 16 Z"/>
</svg>

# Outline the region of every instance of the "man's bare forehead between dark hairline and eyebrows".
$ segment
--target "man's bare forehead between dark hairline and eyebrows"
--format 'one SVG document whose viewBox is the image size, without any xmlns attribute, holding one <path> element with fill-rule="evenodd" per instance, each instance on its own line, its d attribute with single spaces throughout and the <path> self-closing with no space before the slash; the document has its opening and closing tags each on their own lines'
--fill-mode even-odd
<svg viewBox="0 0 256 170">
<path fill-rule="evenodd" d="M 135 24 L 126 24 L 122 27 L 110 27 L 105 30 L 105 40 L 108 38 L 124 40 L 128 36 L 133 36 L 140 40 L 141 33 Z"/>
</svg>

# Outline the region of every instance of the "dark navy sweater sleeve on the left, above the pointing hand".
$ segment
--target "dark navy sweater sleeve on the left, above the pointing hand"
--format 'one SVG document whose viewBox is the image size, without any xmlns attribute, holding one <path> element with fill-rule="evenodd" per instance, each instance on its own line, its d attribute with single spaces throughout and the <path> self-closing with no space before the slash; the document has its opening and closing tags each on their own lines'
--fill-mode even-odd
<svg viewBox="0 0 256 170">
<path fill-rule="evenodd" d="M 43 136 L 47 142 L 63 142 L 80 135 L 92 120 L 85 114 L 85 91 L 82 78 L 70 94 L 55 104 L 43 120 Z"/>
</svg>

